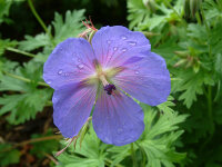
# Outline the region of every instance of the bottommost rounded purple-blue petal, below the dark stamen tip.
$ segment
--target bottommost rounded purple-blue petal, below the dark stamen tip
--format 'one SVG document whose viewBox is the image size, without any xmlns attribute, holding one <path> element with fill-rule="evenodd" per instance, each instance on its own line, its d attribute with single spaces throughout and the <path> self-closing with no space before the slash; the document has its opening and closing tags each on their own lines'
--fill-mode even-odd
<svg viewBox="0 0 222 167">
<path fill-rule="evenodd" d="M 132 98 L 119 92 L 99 96 L 92 115 L 98 137 L 105 144 L 123 146 L 135 141 L 144 129 L 143 111 Z"/>
</svg>

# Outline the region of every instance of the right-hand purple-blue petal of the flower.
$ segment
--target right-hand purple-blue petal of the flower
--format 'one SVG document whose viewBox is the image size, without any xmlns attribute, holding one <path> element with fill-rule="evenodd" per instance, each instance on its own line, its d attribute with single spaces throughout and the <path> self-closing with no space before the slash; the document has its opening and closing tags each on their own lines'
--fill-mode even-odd
<svg viewBox="0 0 222 167">
<path fill-rule="evenodd" d="M 150 106 L 167 101 L 171 91 L 171 79 L 162 57 L 150 52 L 141 61 L 125 63 L 123 67 L 124 70 L 113 78 L 115 86 Z"/>
</svg>

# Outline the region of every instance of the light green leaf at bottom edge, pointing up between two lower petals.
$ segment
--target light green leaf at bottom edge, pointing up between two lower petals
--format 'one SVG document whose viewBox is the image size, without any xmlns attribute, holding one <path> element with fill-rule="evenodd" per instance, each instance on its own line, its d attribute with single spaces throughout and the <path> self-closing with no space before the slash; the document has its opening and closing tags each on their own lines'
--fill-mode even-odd
<svg viewBox="0 0 222 167">
<path fill-rule="evenodd" d="M 77 144 L 74 150 L 73 147 L 69 147 L 69 153 L 64 153 L 58 157 L 61 167 L 104 167 L 105 156 L 104 149 L 108 147 L 100 141 L 92 128 L 90 132 L 85 135 L 84 140 L 81 144 Z"/>
</svg>

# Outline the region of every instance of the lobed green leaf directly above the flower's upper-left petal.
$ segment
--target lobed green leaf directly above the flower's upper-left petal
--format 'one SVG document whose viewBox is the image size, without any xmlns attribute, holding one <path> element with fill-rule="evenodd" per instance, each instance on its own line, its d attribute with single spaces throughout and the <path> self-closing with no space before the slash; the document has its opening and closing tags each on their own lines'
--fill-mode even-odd
<svg viewBox="0 0 222 167">
<path fill-rule="evenodd" d="M 43 51 L 50 49 L 49 52 L 51 52 L 54 45 L 58 45 L 67 38 L 77 37 L 84 30 L 81 22 L 84 19 L 83 14 L 84 10 L 68 10 L 63 20 L 62 16 L 56 12 L 54 21 L 52 21 L 48 28 L 49 32 L 51 32 L 52 27 L 54 28 L 54 38 L 51 39 L 49 35 L 43 32 L 37 35 L 36 37 L 24 36 L 26 40 L 20 41 L 19 49 L 32 51 L 43 48 Z"/>
</svg>

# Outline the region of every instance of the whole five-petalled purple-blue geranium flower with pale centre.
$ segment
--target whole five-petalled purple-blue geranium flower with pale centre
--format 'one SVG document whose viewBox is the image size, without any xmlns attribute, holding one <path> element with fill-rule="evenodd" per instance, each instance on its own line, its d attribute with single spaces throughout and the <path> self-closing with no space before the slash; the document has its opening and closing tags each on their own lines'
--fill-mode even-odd
<svg viewBox="0 0 222 167">
<path fill-rule="evenodd" d="M 44 63 L 43 79 L 54 89 L 53 121 L 61 134 L 77 136 L 95 104 L 92 125 L 103 143 L 135 141 L 144 122 L 133 98 L 157 106 L 171 89 L 164 59 L 150 49 L 143 33 L 121 26 L 101 28 L 91 43 L 83 38 L 59 43 Z"/>
</svg>

